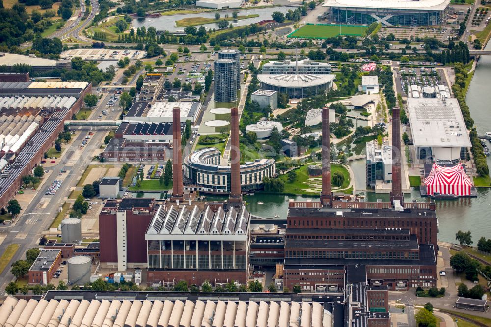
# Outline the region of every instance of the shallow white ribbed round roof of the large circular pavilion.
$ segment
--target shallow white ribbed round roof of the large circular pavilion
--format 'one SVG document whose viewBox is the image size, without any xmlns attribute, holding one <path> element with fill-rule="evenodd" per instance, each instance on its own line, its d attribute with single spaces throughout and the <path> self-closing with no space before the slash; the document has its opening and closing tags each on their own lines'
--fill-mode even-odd
<svg viewBox="0 0 491 327">
<path fill-rule="evenodd" d="M 268 85 L 288 88 L 314 87 L 334 81 L 336 75 L 324 74 L 258 74 L 257 79 Z"/>
</svg>

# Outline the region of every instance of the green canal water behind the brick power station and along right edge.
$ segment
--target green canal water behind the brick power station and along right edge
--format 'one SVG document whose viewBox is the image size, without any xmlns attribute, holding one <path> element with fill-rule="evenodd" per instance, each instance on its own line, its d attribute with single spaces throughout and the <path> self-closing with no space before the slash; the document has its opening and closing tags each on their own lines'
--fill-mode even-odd
<svg viewBox="0 0 491 327">
<path fill-rule="evenodd" d="M 491 45 L 485 47 L 485 50 L 491 50 Z M 483 56 L 479 60 L 476 72 L 470 83 L 467 92 L 466 102 L 470 108 L 471 116 L 479 134 L 491 131 L 491 56 Z M 365 162 L 357 160 L 350 162 L 350 166 L 355 171 L 355 185 L 359 189 L 365 186 Z M 488 157 L 488 166 L 491 167 L 491 158 Z M 249 203 L 247 208 L 252 214 L 265 218 L 273 218 L 275 214 L 280 217 L 286 217 L 288 212 L 288 196 L 256 194 L 247 197 Z M 374 201 L 380 198 L 388 201 L 388 194 L 368 193 L 367 200 Z M 298 196 L 296 200 L 302 201 L 305 198 Z M 405 194 L 406 201 L 422 200 L 419 195 L 419 189 L 413 188 L 410 194 Z M 318 201 L 312 198 L 312 201 Z M 264 204 L 257 204 L 264 202 Z M 472 232 L 474 245 L 480 237 L 491 237 L 491 189 L 478 188 L 477 198 L 462 198 L 454 201 L 436 201 L 436 215 L 439 220 L 438 239 L 446 242 L 455 241 L 455 233 L 458 230 Z"/>
</svg>

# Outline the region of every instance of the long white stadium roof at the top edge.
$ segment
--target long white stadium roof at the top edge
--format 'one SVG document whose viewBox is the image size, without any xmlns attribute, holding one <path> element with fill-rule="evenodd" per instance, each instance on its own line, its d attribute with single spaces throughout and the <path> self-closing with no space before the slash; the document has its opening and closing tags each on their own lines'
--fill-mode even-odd
<svg viewBox="0 0 491 327">
<path fill-rule="evenodd" d="M 323 7 L 444 10 L 450 0 L 326 0 Z"/>
</svg>

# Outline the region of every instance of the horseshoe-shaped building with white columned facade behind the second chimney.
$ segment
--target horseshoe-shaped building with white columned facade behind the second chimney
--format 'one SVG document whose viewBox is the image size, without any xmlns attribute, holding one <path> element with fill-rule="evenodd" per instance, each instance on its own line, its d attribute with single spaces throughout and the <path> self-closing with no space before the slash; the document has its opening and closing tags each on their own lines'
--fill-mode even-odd
<svg viewBox="0 0 491 327">
<path fill-rule="evenodd" d="M 221 152 L 202 148 L 184 159 L 184 177 L 196 190 L 212 194 L 230 192 L 230 166 L 220 165 Z M 276 176 L 274 159 L 257 159 L 241 164 L 241 189 L 253 192 L 263 188 L 263 179 Z"/>
</svg>

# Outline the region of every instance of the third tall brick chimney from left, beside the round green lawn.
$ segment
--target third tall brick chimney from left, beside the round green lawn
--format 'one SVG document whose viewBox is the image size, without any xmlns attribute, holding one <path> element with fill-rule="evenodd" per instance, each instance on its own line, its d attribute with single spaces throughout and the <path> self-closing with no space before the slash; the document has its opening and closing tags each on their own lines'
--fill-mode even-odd
<svg viewBox="0 0 491 327">
<path fill-rule="evenodd" d="M 321 204 L 332 206 L 331 190 L 331 143 L 329 128 L 329 108 L 322 108 L 322 191 Z"/>
</svg>

